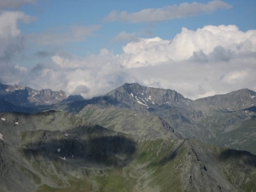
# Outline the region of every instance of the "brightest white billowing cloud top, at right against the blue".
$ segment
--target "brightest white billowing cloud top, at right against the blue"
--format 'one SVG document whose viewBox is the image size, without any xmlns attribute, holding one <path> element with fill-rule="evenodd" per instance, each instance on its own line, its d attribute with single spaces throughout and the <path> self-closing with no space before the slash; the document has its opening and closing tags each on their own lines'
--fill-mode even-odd
<svg viewBox="0 0 256 192">
<path fill-rule="evenodd" d="M 237 26 L 183 28 L 172 40 L 140 39 L 123 47 L 124 67 L 154 66 L 170 61 L 230 61 L 239 53 L 256 51 L 256 30 L 241 32 Z"/>
</svg>

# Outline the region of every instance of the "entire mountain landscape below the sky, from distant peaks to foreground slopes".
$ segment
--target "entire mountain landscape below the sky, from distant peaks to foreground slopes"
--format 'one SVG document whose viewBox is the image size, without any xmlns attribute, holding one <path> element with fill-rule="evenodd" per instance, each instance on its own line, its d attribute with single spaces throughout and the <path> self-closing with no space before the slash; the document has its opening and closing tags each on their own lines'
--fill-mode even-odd
<svg viewBox="0 0 256 192">
<path fill-rule="evenodd" d="M 0 84 L 1 191 L 256 191 L 256 93 Z"/>
</svg>

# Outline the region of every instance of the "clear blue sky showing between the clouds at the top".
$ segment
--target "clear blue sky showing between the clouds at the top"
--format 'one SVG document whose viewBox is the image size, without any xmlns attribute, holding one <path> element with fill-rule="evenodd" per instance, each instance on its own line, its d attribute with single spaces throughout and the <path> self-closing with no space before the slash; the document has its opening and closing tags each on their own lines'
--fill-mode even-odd
<svg viewBox="0 0 256 192">
<path fill-rule="evenodd" d="M 37 20 L 29 25 L 20 23 L 20 28 L 25 34 L 40 33 L 49 29 L 77 26 L 100 26 L 84 41 L 70 42 L 61 45 L 61 49 L 84 56 L 86 53 L 98 54 L 100 49 L 106 48 L 115 54 L 122 52 L 125 42 L 111 41 L 119 32 L 136 33 L 140 38 L 160 37 L 172 39 L 181 32 L 182 27 L 196 30 L 207 25 L 236 25 L 243 32 L 256 28 L 256 2 L 251 1 L 224 1 L 230 4 L 230 9 L 217 9 L 210 14 L 199 14 L 188 18 L 162 20 L 159 22 L 147 21 L 130 23 L 127 21 L 104 22 L 103 18 L 113 11 L 127 11 L 134 13 L 143 9 L 161 9 L 168 5 L 193 3 L 195 1 L 39 1 L 36 4 L 26 4 L 20 8 L 27 15 L 37 17 Z M 196 1 L 206 4 L 208 1 Z M 60 48 L 53 46 L 51 49 Z M 38 49 L 44 49 L 44 47 Z M 49 49 L 49 48 L 45 48 Z"/>
</svg>

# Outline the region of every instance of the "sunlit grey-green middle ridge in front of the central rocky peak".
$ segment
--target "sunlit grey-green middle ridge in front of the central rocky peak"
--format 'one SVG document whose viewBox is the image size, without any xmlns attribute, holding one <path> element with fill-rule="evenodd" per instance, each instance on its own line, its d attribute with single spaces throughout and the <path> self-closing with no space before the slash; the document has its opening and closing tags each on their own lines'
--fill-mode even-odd
<svg viewBox="0 0 256 192">
<path fill-rule="evenodd" d="M 92 124 L 124 132 L 137 139 L 180 138 L 166 121 L 150 113 L 144 114 L 128 109 L 98 108 L 88 105 L 77 116 Z"/>
</svg>

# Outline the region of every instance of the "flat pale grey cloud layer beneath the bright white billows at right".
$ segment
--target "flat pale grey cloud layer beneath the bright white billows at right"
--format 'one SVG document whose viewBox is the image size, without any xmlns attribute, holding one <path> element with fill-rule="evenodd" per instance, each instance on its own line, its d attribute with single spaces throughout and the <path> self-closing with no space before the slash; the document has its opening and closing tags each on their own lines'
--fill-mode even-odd
<svg viewBox="0 0 256 192">
<path fill-rule="evenodd" d="M 241 64 L 242 63 L 242 64 Z M 147 86 L 177 90 L 183 96 L 196 99 L 248 88 L 256 90 L 255 59 L 235 59 L 230 62 L 176 61 L 159 66 L 131 68 L 137 82 Z"/>
</svg>

